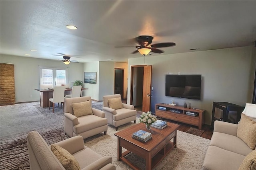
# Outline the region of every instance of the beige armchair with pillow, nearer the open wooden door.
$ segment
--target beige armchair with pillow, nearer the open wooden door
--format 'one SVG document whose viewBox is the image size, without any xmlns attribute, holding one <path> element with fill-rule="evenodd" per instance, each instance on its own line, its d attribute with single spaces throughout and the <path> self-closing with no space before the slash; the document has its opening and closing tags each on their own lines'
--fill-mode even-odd
<svg viewBox="0 0 256 170">
<path fill-rule="evenodd" d="M 103 107 L 105 111 L 105 117 L 108 119 L 108 123 L 116 127 L 124 125 L 131 121 L 136 123 L 137 111 L 134 110 L 134 106 L 129 104 L 123 104 L 120 94 L 103 96 Z"/>
</svg>

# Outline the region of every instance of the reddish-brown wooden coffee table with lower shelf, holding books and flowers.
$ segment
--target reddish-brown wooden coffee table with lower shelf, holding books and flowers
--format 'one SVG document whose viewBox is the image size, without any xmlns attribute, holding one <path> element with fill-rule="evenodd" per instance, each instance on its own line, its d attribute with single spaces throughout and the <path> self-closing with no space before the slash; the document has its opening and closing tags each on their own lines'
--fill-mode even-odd
<svg viewBox="0 0 256 170">
<path fill-rule="evenodd" d="M 164 158 L 173 148 L 177 147 L 177 128 L 180 125 L 167 122 L 167 127 L 164 129 L 156 129 L 151 127 L 150 133 L 152 133 L 152 139 L 146 143 L 137 141 L 132 138 L 132 133 L 138 130 L 146 130 L 144 123 L 139 123 L 128 127 L 114 135 L 117 136 L 117 160 L 126 162 L 134 170 L 139 168 L 132 164 L 125 158 L 127 154 L 133 152 L 134 154 L 146 159 L 146 169 L 151 170 L 154 168 L 160 160 Z M 173 138 L 173 142 L 170 140 Z M 122 147 L 127 149 L 122 153 Z"/>
</svg>

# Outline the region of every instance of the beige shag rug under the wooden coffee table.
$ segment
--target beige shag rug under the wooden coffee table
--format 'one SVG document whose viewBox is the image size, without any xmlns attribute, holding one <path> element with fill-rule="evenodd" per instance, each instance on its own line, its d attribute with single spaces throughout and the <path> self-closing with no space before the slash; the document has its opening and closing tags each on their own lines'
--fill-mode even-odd
<svg viewBox="0 0 256 170">
<path fill-rule="evenodd" d="M 118 128 L 118 131 L 132 125 L 134 125 L 134 123 L 123 125 Z M 102 156 L 111 156 L 112 162 L 117 170 L 131 170 L 124 162 L 117 160 L 117 137 L 114 136 L 116 132 L 114 127 L 109 126 L 107 135 L 103 135 L 102 133 L 90 137 L 84 140 L 84 144 Z M 178 147 L 172 150 L 158 166 L 156 166 L 155 170 L 200 170 L 210 140 L 181 131 L 178 131 L 177 139 Z M 122 151 L 124 152 L 124 149 Z M 145 169 L 145 161 L 139 156 L 129 154 L 126 158 L 131 162 L 136 162 L 136 166 L 139 168 Z"/>
</svg>

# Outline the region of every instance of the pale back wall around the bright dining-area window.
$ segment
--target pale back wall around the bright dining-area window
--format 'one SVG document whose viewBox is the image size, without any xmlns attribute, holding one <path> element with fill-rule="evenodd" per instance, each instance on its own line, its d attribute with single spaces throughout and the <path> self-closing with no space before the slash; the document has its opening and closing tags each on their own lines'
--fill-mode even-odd
<svg viewBox="0 0 256 170">
<path fill-rule="evenodd" d="M 40 100 L 40 92 L 34 90 L 34 88 L 39 88 L 39 66 L 67 68 L 68 83 L 83 80 L 83 64 L 81 63 L 65 65 L 61 61 L 3 54 L 0 55 L 0 62 L 14 64 L 16 103 Z"/>
</svg>

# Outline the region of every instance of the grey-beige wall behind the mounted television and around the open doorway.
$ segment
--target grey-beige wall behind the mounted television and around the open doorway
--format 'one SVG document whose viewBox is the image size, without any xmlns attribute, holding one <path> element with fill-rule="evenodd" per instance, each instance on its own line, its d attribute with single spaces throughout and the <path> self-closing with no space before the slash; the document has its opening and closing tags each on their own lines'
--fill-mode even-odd
<svg viewBox="0 0 256 170">
<path fill-rule="evenodd" d="M 130 66 L 153 65 L 153 96 L 151 111 L 156 103 L 170 103 L 205 109 L 205 123 L 210 125 L 212 102 L 230 102 L 244 106 L 248 102 L 252 46 L 210 51 L 179 53 L 173 55 L 146 56 L 128 60 L 128 103 L 130 101 Z M 165 74 L 202 74 L 201 100 L 165 96 Z"/>
</svg>

